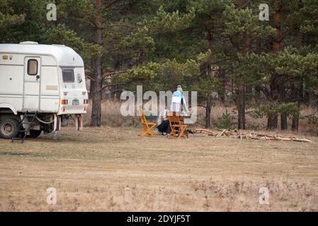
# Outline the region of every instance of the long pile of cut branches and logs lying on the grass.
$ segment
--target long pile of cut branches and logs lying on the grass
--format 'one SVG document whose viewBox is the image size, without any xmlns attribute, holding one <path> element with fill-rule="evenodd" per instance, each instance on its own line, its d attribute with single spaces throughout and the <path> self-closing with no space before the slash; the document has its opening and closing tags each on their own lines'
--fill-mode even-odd
<svg viewBox="0 0 318 226">
<path fill-rule="evenodd" d="M 254 139 L 254 140 L 266 140 L 266 141 L 297 141 L 297 142 L 312 142 L 306 138 L 297 138 L 295 136 L 281 136 L 270 133 L 262 133 L 256 131 L 239 131 L 234 129 L 233 131 L 227 129 L 218 129 L 218 131 L 210 131 L 208 129 L 195 129 L 193 133 L 205 133 L 208 136 L 229 136 L 232 138 L 243 139 Z"/>
</svg>

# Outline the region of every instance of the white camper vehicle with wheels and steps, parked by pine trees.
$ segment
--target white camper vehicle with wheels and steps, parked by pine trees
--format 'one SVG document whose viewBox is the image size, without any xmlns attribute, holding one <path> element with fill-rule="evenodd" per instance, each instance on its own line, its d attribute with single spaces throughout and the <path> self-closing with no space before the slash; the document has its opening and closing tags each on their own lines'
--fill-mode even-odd
<svg viewBox="0 0 318 226">
<path fill-rule="evenodd" d="M 84 62 L 64 45 L 0 44 L 0 136 L 37 137 L 75 119 L 82 126 L 88 93 Z M 22 133 L 22 134 L 21 134 Z"/>
</svg>

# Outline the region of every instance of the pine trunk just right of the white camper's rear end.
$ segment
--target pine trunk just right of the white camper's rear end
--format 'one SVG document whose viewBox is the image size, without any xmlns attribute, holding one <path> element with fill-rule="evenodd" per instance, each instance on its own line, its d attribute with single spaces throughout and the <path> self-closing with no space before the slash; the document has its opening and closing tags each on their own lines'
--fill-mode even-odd
<svg viewBox="0 0 318 226">
<path fill-rule="evenodd" d="M 101 20 L 101 7 L 102 0 L 96 0 L 96 44 L 103 44 L 103 26 Z M 93 80 L 91 81 L 91 126 L 101 126 L 101 100 L 102 92 L 101 88 L 103 85 L 102 79 L 102 59 L 101 56 L 96 57 L 94 61 L 94 74 Z"/>
</svg>

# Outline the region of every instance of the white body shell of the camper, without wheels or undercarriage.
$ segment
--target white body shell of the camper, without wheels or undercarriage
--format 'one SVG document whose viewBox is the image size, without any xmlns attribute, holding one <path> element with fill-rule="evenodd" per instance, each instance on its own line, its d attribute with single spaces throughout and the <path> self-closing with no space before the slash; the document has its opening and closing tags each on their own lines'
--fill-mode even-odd
<svg viewBox="0 0 318 226">
<path fill-rule="evenodd" d="M 73 71 L 64 81 L 63 70 Z M 84 62 L 60 45 L 0 44 L 0 107 L 59 114 L 86 113 Z M 67 105 L 61 101 L 67 100 Z"/>
</svg>

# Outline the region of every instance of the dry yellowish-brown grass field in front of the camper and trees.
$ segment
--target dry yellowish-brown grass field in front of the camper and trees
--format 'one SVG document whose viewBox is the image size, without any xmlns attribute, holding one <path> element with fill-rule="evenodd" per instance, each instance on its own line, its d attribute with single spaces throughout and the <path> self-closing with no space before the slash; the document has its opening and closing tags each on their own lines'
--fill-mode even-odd
<svg viewBox="0 0 318 226">
<path fill-rule="evenodd" d="M 1 211 L 318 210 L 314 143 L 191 136 L 168 140 L 136 129 L 63 129 L 0 139 Z M 57 204 L 47 204 L 47 188 Z M 269 204 L 259 203 L 268 188 Z"/>
</svg>

